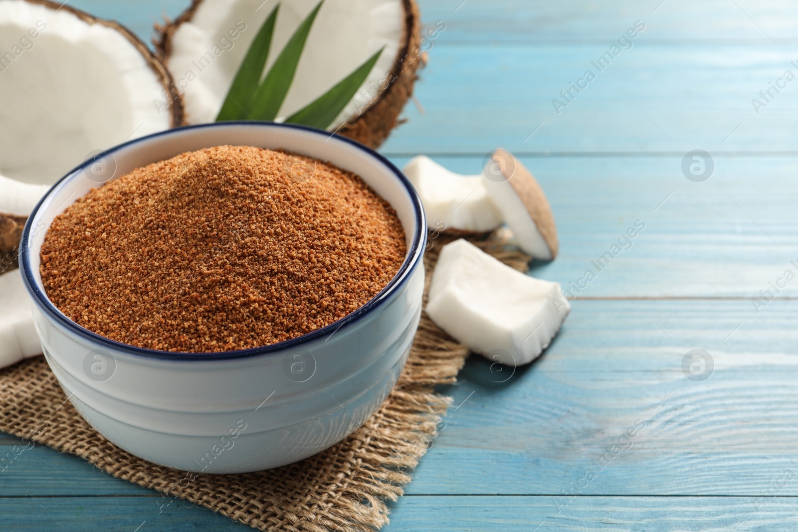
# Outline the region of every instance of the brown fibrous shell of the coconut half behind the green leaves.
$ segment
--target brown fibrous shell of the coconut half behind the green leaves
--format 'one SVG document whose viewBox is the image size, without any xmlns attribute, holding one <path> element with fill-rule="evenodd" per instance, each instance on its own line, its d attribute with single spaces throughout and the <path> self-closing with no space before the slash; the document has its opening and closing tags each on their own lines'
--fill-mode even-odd
<svg viewBox="0 0 798 532">
<path fill-rule="evenodd" d="M 199 4 L 203 0 L 192 0 L 174 22 L 166 22 L 164 26 L 156 26 L 159 36 L 153 41 L 164 64 L 172 53 L 172 35 L 184 22 L 192 20 Z M 385 89 L 365 108 L 359 116 L 353 116 L 338 128 L 343 136 L 377 148 L 385 142 L 393 128 L 401 124 L 399 115 L 407 100 L 413 96 L 413 84 L 418 76 L 418 69 L 426 64 L 426 53 L 421 50 L 421 15 L 415 0 L 402 0 L 405 7 L 405 30 L 402 45 L 393 61 L 393 71 L 385 78 L 388 82 Z"/>
</svg>

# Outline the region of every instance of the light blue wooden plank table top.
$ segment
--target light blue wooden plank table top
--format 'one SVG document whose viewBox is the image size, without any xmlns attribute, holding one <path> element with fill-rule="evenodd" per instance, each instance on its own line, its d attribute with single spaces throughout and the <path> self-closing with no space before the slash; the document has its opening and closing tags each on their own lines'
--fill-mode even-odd
<svg viewBox="0 0 798 532">
<path fill-rule="evenodd" d="M 70 2 L 142 37 L 187 3 Z M 636 220 L 645 229 L 571 292 L 571 317 L 535 364 L 508 379 L 468 360 L 386 529 L 798 530 L 798 278 L 784 278 L 798 274 L 798 80 L 778 81 L 798 75 L 798 5 L 421 10 L 446 30 L 382 152 L 464 173 L 497 146 L 516 153 L 559 223 L 559 258 L 533 274 L 566 289 Z M 591 61 L 636 21 L 645 30 L 599 72 Z M 595 79 L 563 100 L 587 69 Z M 696 149 L 713 160 L 703 181 L 682 171 Z M 709 353 L 693 372 L 692 349 Z M 16 442 L 0 435 L 0 454 Z M 0 529 L 245 530 L 188 504 L 160 511 L 155 492 L 43 447 L 0 475 Z"/>
</svg>

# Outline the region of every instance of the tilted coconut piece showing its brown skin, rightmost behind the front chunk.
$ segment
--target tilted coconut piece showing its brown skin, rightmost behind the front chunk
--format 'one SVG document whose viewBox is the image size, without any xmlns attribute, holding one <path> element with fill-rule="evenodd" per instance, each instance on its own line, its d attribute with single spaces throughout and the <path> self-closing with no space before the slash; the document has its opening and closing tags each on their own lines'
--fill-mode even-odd
<svg viewBox="0 0 798 532">
<path fill-rule="evenodd" d="M 510 152 L 497 149 L 482 175 L 488 195 L 516 235 L 521 250 L 539 260 L 554 259 L 559 250 L 557 224 L 546 195 L 531 172 Z"/>
</svg>

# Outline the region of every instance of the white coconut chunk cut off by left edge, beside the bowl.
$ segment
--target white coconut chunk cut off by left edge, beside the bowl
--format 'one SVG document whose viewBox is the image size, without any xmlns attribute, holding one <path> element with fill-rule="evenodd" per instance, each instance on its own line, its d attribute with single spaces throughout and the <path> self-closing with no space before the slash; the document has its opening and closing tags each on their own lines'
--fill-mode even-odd
<svg viewBox="0 0 798 532">
<path fill-rule="evenodd" d="M 41 342 L 22 274 L 6 272 L 0 275 L 0 368 L 39 354 Z"/>
</svg>

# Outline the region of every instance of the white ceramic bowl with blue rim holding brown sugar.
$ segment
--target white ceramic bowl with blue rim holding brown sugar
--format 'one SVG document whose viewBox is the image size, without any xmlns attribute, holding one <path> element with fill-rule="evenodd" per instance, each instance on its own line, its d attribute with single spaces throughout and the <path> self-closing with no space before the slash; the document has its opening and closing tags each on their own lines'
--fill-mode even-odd
<svg viewBox="0 0 798 532">
<path fill-rule="evenodd" d="M 284 148 L 354 171 L 397 211 L 401 270 L 360 309 L 313 333 L 257 349 L 167 353 L 109 340 L 47 298 L 39 254 L 56 215 L 98 183 L 182 152 L 221 144 Z M 354 432 L 405 365 L 421 316 L 427 227 L 421 201 L 385 158 L 342 136 L 290 124 L 221 123 L 121 144 L 65 175 L 22 234 L 20 269 L 42 349 L 77 411 L 136 456 L 206 473 L 278 467 Z"/>
</svg>

